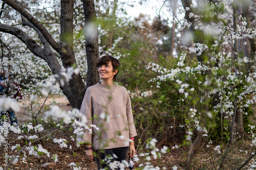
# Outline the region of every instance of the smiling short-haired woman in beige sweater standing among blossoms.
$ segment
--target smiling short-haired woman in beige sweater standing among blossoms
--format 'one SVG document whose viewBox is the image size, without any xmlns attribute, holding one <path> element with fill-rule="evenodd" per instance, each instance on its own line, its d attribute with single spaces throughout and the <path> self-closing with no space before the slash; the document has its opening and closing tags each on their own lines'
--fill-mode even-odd
<svg viewBox="0 0 256 170">
<path fill-rule="evenodd" d="M 121 162 L 126 159 L 129 148 L 132 158 L 135 155 L 133 137 L 137 132 L 129 94 L 125 87 L 113 83 L 120 67 L 119 61 L 112 56 L 103 56 L 97 67 L 102 81 L 87 89 L 80 112 L 87 116 L 88 125 L 94 124 L 99 130 L 93 128 L 93 134 L 86 132 L 83 137 L 77 136 L 77 140 L 87 143 L 86 155 L 89 160 L 96 159 L 99 169 L 108 166 L 101 162 L 106 155 Z M 98 155 L 96 158 L 93 151 Z"/>
</svg>

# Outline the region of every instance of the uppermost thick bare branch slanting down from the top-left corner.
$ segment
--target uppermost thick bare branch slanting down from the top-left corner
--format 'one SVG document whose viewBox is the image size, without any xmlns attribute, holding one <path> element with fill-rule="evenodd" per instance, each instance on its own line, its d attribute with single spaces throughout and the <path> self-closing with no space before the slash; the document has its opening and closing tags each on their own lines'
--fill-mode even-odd
<svg viewBox="0 0 256 170">
<path fill-rule="evenodd" d="M 25 18 L 28 19 L 34 25 L 42 35 L 44 35 L 45 39 L 49 42 L 49 44 L 53 47 L 54 50 L 59 52 L 58 43 L 52 38 L 51 34 L 46 30 L 46 28 L 38 21 L 36 20 L 28 11 L 26 11 L 22 5 L 19 4 L 16 0 L 2 0 L 6 4 L 8 4 L 10 7 L 15 9 L 17 12 L 22 14 Z"/>
</svg>

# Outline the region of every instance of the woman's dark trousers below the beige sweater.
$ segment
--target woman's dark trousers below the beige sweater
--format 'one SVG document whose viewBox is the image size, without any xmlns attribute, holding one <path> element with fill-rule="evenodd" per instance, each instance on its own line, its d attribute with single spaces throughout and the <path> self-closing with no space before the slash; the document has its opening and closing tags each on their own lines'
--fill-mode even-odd
<svg viewBox="0 0 256 170">
<path fill-rule="evenodd" d="M 112 149 L 105 149 L 105 150 L 96 150 L 97 157 L 95 158 L 95 160 L 96 160 L 98 169 L 100 169 L 100 168 L 104 169 L 105 167 L 109 167 L 105 163 L 100 163 L 102 160 L 105 159 L 105 157 L 108 157 L 108 156 L 113 157 L 113 159 L 111 159 L 111 162 L 114 162 L 114 161 L 120 161 L 121 162 L 122 160 L 126 160 L 127 149 L 128 149 L 128 147 L 112 148 Z M 115 158 L 113 156 L 113 154 L 115 154 L 117 156 L 117 158 Z"/>
</svg>

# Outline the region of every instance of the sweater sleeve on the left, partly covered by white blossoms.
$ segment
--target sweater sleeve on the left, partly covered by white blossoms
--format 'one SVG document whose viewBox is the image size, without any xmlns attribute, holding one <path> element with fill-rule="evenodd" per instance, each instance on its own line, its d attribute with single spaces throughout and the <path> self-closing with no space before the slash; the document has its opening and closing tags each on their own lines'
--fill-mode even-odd
<svg viewBox="0 0 256 170">
<path fill-rule="evenodd" d="M 86 116 L 86 118 L 87 118 L 86 125 L 87 126 L 91 125 L 92 124 L 93 112 L 92 112 L 92 98 L 91 98 L 91 94 L 90 94 L 89 89 L 87 89 L 86 94 L 84 94 L 82 105 L 81 105 L 81 108 L 80 108 L 80 113 L 82 115 Z M 81 121 L 81 120 L 79 119 L 79 121 Z M 90 129 L 92 130 L 92 128 L 90 128 Z M 87 130 L 84 133 L 84 135 L 77 135 L 76 139 L 79 143 L 92 144 L 92 134 L 89 133 L 89 130 Z"/>
</svg>

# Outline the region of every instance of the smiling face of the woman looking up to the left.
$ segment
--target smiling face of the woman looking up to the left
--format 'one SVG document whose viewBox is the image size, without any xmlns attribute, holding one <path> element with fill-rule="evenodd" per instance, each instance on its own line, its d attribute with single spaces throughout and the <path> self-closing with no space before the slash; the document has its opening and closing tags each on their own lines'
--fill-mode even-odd
<svg viewBox="0 0 256 170">
<path fill-rule="evenodd" d="M 113 71 L 112 63 L 106 62 L 105 64 L 99 66 L 98 72 L 99 77 L 102 80 L 113 80 L 113 77 L 117 73 L 117 70 Z"/>
</svg>

